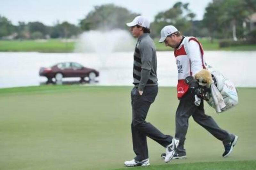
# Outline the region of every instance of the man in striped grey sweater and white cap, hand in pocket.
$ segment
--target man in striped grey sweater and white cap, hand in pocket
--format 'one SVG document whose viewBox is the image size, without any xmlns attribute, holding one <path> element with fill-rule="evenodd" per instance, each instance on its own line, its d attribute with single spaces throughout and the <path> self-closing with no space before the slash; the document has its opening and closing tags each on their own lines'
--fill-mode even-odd
<svg viewBox="0 0 256 170">
<path fill-rule="evenodd" d="M 150 38 L 149 22 L 146 18 L 138 16 L 126 24 L 131 28 L 134 37 L 138 38 L 133 62 L 132 98 L 132 143 L 136 156 L 130 161 L 125 161 L 125 166 L 148 166 L 147 137 L 155 140 L 166 148 L 165 162 L 172 159 L 179 140 L 169 135 L 164 135 L 145 119 L 151 103 L 154 102 L 158 83 L 156 77 L 156 47 Z"/>
</svg>

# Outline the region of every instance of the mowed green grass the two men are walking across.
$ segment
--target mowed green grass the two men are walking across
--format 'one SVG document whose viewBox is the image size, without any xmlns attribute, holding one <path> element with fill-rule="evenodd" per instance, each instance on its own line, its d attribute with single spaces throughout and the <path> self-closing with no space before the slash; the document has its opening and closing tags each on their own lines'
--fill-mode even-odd
<svg viewBox="0 0 256 170">
<path fill-rule="evenodd" d="M 0 89 L 0 169 L 124 168 L 124 161 L 134 157 L 131 88 L 75 85 Z M 164 148 L 148 139 L 151 166 L 145 169 L 255 169 L 256 88 L 239 88 L 238 92 L 239 105 L 223 114 L 217 115 L 205 103 L 206 113 L 221 128 L 239 136 L 230 157 L 221 157 L 222 143 L 191 117 L 185 143 L 188 158 L 166 164 L 160 158 Z M 174 135 L 177 105 L 175 88 L 160 87 L 147 121 Z"/>
</svg>

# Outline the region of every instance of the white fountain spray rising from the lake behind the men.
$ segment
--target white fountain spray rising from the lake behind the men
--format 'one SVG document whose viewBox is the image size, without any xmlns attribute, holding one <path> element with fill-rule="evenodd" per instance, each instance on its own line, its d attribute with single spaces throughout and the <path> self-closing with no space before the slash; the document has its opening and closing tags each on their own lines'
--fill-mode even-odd
<svg viewBox="0 0 256 170">
<path fill-rule="evenodd" d="M 109 67 L 106 65 L 106 60 L 112 53 L 132 51 L 135 43 L 136 40 L 126 30 L 91 30 L 79 36 L 75 52 L 96 53 L 100 62 L 100 70 L 104 70 Z"/>
</svg>

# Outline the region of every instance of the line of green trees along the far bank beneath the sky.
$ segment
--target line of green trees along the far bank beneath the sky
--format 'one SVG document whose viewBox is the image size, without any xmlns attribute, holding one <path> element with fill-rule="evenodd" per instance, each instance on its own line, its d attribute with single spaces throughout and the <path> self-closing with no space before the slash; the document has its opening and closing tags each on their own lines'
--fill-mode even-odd
<svg viewBox="0 0 256 170">
<path fill-rule="evenodd" d="M 189 3 L 177 2 L 168 10 L 156 14 L 150 24 L 151 36 L 159 37 L 163 26 L 174 25 L 183 35 L 232 38 L 236 41 L 247 35 L 255 36 L 255 28 L 250 26 L 250 16 L 255 12 L 256 0 L 213 0 L 206 7 L 204 18 L 194 20 L 196 14 L 189 8 Z M 10 35 L 16 39 L 70 38 L 94 29 L 127 29 L 125 23 L 138 15 L 114 4 L 95 6 L 77 26 L 68 22 L 54 26 L 45 26 L 41 22 L 19 22 L 18 26 L 14 26 L 0 15 L 0 38 Z"/>
</svg>

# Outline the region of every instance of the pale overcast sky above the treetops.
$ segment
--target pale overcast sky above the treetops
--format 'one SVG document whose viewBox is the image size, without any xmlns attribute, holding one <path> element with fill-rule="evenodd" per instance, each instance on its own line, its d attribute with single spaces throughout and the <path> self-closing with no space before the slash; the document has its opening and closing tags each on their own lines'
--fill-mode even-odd
<svg viewBox="0 0 256 170">
<path fill-rule="evenodd" d="M 150 22 L 160 11 L 165 11 L 178 0 L 0 0 L 0 15 L 18 25 L 18 21 L 39 21 L 48 26 L 68 21 L 77 25 L 80 19 L 94 9 L 96 5 L 115 4 L 131 12 L 140 13 Z M 205 7 L 212 0 L 180 0 L 189 3 L 189 9 L 196 13 L 196 20 L 203 18 Z"/>
</svg>

